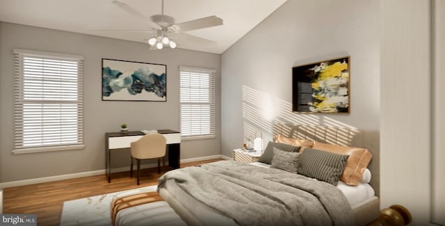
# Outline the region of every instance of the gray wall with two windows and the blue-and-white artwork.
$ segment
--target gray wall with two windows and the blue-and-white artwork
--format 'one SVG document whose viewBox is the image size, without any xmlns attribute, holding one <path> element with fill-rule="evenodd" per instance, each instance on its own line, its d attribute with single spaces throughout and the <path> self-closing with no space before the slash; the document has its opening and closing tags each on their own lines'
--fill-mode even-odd
<svg viewBox="0 0 445 226">
<path fill-rule="evenodd" d="M 83 150 L 13 155 L 13 49 L 30 49 L 83 55 L 84 141 Z M 102 101 L 101 59 L 130 60 L 167 65 L 167 102 Z M 216 98 L 220 99 L 220 55 L 163 49 L 149 51 L 147 44 L 55 31 L 0 22 L 0 182 L 104 169 L 104 133 L 129 130 L 179 130 L 179 66 L 216 69 Z M 216 109 L 219 126 L 219 105 Z M 113 156 L 113 167 L 129 166 L 129 152 Z M 183 141 L 181 158 L 220 154 L 216 139 Z"/>
</svg>

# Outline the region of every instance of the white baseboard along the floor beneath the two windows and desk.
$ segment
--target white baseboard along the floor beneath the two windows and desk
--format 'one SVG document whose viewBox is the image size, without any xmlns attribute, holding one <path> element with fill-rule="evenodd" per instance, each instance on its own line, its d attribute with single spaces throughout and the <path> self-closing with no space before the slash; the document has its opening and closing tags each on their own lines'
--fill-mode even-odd
<svg viewBox="0 0 445 226">
<path fill-rule="evenodd" d="M 209 155 L 204 157 L 195 157 L 190 159 L 181 159 L 181 163 L 188 163 L 188 162 L 197 162 L 197 161 L 204 161 L 209 159 L 227 159 L 227 156 L 225 155 Z M 232 158 L 229 158 L 232 159 Z M 168 162 L 165 162 L 165 164 L 168 164 Z M 157 167 L 158 164 L 143 164 L 140 166 L 140 168 L 153 168 Z M 162 163 L 161 163 L 162 166 Z M 134 166 L 136 168 L 136 166 Z M 130 171 L 130 167 L 120 167 L 120 168 L 112 168 L 111 173 L 120 173 Z M 104 175 L 105 176 L 105 169 L 99 170 L 99 171 L 88 171 L 88 172 L 82 172 L 82 173 L 70 173 L 65 175 L 56 175 L 51 177 L 39 177 L 39 178 L 33 178 L 33 179 L 27 179 L 27 180 L 16 180 L 12 182 L 3 182 L 0 183 L 0 189 L 6 189 L 13 186 L 24 186 L 29 184 L 40 184 L 44 182 L 54 182 L 59 180 L 68 180 L 68 179 L 74 179 L 74 178 L 80 178 L 80 177 L 91 177 L 96 175 Z M 0 194 L 1 195 L 1 194 Z M 1 197 L 0 197 L 1 198 Z M 0 211 L 1 212 L 1 211 Z"/>
</svg>

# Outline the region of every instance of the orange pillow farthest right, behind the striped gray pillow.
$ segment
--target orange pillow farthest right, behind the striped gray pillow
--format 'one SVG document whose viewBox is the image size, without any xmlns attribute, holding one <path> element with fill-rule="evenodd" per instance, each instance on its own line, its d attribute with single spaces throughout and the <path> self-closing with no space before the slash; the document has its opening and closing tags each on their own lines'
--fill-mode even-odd
<svg viewBox="0 0 445 226">
<path fill-rule="evenodd" d="M 338 146 L 314 141 L 313 149 L 325 150 L 330 153 L 349 155 L 343 174 L 340 177 L 342 182 L 348 185 L 358 185 L 362 179 L 364 170 L 371 162 L 373 155 L 366 148 L 355 148 L 348 146 Z"/>
</svg>

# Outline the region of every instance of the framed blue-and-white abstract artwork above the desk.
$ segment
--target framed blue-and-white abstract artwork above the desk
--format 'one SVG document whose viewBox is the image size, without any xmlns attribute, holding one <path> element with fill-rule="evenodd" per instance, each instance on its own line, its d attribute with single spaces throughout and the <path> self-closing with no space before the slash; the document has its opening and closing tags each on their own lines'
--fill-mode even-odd
<svg viewBox="0 0 445 226">
<path fill-rule="evenodd" d="M 102 100 L 167 101 L 166 67 L 102 59 Z"/>
</svg>

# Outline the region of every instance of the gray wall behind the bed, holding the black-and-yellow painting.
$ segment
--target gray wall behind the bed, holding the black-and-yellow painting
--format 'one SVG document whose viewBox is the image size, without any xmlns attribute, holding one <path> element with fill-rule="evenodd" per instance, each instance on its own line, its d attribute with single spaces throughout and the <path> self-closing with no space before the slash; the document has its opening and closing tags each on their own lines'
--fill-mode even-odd
<svg viewBox="0 0 445 226">
<path fill-rule="evenodd" d="M 222 56 L 222 154 L 274 121 L 371 131 L 378 151 L 379 2 L 289 0 Z M 350 114 L 291 112 L 292 67 L 350 55 Z M 374 133 L 372 133 L 374 132 Z"/>
</svg>

